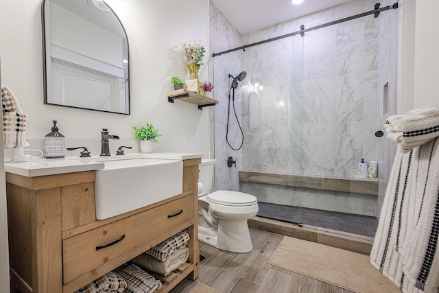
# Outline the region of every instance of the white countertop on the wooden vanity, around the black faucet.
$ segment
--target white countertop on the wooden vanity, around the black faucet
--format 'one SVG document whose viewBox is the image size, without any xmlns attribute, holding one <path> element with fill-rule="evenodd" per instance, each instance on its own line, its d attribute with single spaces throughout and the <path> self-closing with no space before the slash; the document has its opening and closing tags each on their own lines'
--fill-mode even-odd
<svg viewBox="0 0 439 293">
<path fill-rule="evenodd" d="M 189 153 L 150 153 L 150 154 L 125 154 L 123 156 L 91 156 L 80 158 L 79 156 L 67 156 L 63 159 L 34 159 L 30 162 L 5 163 L 5 172 L 26 177 L 47 176 L 73 172 L 91 171 L 105 167 L 105 161 L 123 159 L 167 159 L 187 160 L 201 158 L 202 154 Z"/>
</svg>

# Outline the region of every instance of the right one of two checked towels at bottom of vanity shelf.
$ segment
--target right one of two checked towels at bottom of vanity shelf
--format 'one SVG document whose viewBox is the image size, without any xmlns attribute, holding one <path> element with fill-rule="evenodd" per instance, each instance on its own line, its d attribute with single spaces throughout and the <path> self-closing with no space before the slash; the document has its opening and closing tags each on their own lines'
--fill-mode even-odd
<svg viewBox="0 0 439 293">
<path fill-rule="evenodd" d="M 127 293 L 152 293 L 162 288 L 160 280 L 156 280 L 133 263 L 119 272 L 119 275 L 126 281 L 124 292 Z"/>
</svg>

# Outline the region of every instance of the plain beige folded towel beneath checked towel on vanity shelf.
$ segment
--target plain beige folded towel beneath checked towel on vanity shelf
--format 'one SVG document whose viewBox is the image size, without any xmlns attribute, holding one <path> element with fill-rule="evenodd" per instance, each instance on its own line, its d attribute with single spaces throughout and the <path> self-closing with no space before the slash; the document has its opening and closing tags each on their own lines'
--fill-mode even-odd
<svg viewBox="0 0 439 293">
<path fill-rule="evenodd" d="M 163 276 L 167 276 L 173 270 L 181 266 L 182 263 L 185 263 L 188 258 L 189 248 L 183 247 L 176 250 L 176 252 L 169 256 L 165 261 L 159 261 L 155 257 L 147 255 L 146 253 L 142 253 L 138 257 L 134 257 L 134 259 L 132 259 L 131 261 L 145 268 L 146 270 L 158 272 L 158 274 L 163 274 Z"/>
</svg>

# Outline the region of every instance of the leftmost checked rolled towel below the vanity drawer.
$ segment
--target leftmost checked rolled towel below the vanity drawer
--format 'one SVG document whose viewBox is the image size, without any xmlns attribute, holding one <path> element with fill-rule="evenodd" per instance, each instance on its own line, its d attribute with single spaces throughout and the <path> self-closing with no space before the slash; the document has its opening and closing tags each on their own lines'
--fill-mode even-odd
<svg viewBox="0 0 439 293">
<path fill-rule="evenodd" d="M 85 285 L 75 293 L 101 293 L 114 292 L 122 293 L 126 288 L 126 281 L 115 272 L 108 272 L 104 276 Z"/>
</svg>

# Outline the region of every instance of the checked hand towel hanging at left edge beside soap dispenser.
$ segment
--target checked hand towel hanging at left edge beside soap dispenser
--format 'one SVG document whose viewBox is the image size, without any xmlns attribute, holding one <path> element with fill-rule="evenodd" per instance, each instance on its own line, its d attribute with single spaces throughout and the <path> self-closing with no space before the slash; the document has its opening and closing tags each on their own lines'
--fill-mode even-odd
<svg viewBox="0 0 439 293">
<path fill-rule="evenodd" d="M 23 114 L 19 101 L 12 91 L 1 84 L 1 103 L 3 105 L 3 148 L 23 148 L 25 141 L 27 115 Z"/>
</svg>

